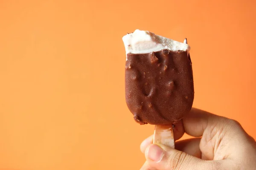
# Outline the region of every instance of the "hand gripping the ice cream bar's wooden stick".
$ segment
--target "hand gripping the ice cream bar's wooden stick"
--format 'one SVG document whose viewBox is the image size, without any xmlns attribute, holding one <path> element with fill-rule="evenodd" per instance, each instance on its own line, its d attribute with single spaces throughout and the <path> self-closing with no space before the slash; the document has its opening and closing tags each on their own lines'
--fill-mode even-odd
<svg viewBox="0 0 256 170">
<path fill-rule="evenodd" d="M 184 132 L 197 138 L 178 141 L 175 149 L 145 139 L 141 170 L 256 170 L 256 142 L 239 122 L 193 108 L 174 128 L 175 140 Z"/>
</svg>

